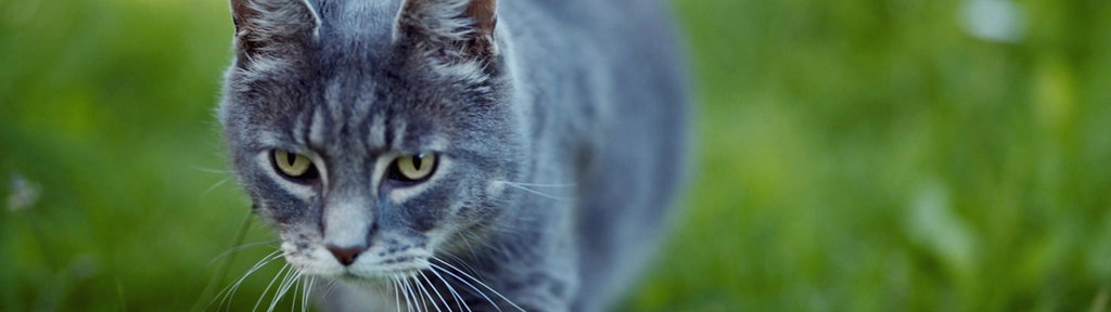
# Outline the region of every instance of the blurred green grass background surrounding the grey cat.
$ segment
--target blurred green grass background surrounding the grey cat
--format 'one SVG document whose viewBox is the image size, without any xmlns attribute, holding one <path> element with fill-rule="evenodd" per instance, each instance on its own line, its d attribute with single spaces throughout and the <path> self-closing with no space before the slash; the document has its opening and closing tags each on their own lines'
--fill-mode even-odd
<svg viewBox="0 0 1111 312">
<path fill-rule="evenodd" d="M 623 310 L 1105 311 L 1111 3 L 1005 2 L 1001 41 L 970 1 L 677 1 L 701 169 Z M 0 0 L 0 310 L 203 309 L 272 251 L 221 256 L 230 36 L 218 0 Z"/>
</svg>

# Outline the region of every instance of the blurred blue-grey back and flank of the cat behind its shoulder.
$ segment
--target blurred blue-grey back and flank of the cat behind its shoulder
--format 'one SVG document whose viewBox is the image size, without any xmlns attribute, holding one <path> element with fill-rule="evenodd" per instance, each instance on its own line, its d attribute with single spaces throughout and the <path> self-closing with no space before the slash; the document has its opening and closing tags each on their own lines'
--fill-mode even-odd
<svg viewBox="0 0 1111 312">
<path fill-rule="evenodd" d="M 577 171 L 582 282 L 572 310 L 608 306 L 660 249 L 685 180 L 681 40 L 662 1 L 502 3 L 523 92 L 547 125 L 537 135 Z"/>
</svg>

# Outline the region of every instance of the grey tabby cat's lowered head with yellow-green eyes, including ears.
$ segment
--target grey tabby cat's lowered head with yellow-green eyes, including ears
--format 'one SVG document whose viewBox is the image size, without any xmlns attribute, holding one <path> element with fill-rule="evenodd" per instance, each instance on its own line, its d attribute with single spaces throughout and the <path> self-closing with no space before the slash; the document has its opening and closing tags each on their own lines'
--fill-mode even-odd
<svg viewBox="0 0 1111 312">
<path fill-rule="evenodd" d="M 528 171 L 494 0 L 232 0 L 219 118 L 303 273 L 369 280 L 511 213 Z"/>
</svg>

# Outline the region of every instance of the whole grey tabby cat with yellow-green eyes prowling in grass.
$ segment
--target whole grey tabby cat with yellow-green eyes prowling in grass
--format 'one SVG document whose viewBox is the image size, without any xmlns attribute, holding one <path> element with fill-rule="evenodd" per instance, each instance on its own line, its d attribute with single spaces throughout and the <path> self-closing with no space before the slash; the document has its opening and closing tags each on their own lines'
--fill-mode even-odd
<svg viewBox="0 0 1111 312">
<path fill-rule="evenodd" d="M 218 114 L 342 311 L 599 311 L 659 249 L 688 94 L 651 0 L 231 0 Z M 324 293 L 324 291 L 317 291 Z"/>
</svg>

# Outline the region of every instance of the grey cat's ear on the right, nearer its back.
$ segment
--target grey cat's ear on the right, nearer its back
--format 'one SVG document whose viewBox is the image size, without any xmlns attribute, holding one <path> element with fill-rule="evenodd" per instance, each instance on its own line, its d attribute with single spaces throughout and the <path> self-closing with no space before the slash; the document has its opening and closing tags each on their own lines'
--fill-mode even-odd
<svg viewBox="0 0 1111 312">
<path fill-rule="evenodd" d="M 488 59 L 498 54 L 497 0 L 406 0 L 393 40 L 424 43 L 448 57 Z"/>
</svg>

